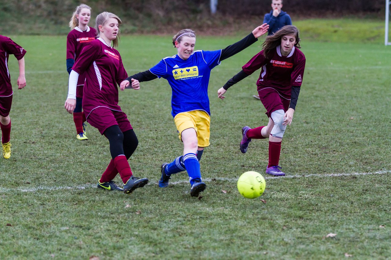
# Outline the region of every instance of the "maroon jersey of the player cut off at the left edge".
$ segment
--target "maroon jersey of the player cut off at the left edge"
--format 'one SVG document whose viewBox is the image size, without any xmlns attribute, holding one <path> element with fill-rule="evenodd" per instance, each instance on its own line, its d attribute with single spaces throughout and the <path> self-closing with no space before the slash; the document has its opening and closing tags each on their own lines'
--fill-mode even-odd
<svg viewBox="0 0 391 260">
<path fill-rule="evenodd" d="M 26 54 L 26 50 L 10 38 L 0 35 L 0 97 L 9 97 L 13 94 L 11 76 L 8 71 L 10 54 L 15 55 L 16 59 L 20 60 Z"/>
</svg>

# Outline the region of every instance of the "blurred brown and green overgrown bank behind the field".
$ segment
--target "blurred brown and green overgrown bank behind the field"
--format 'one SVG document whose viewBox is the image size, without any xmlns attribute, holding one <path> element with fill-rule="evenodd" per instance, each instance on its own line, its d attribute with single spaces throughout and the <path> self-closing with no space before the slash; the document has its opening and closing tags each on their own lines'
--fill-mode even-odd
<svg viewBox="0 0 391 260">
<path fill-rule="evenodd" d="M 92 16 L 102 11 L 117 14 L 127 25 L 122 31 L 172 31 L 178 25 L 212 30 L 239 27 L 263 20 L 271 0 L 218 0 L 210 14 L 210 0 L 0 0 L 0 32 L 63 34 L 75 7 L 90 5 Z M 283 11 L 292 18 L 369 16 L 384 19 L 385 0 L 285 0 Z M 93 26 L 91 19 L 90 25 Z"/>
</svg>

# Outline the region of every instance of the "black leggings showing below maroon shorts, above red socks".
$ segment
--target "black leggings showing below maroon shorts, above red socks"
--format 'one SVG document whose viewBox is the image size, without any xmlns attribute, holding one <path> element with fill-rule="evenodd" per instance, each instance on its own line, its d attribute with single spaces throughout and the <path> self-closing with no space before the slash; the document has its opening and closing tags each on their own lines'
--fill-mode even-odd
<svg viewBox="0 0 391 260">
<path fill-rule="evenodd" d="M 113 159 L 121 154 L 124 154 L 126 159 L 129 159 L 137 148 L 138 139 L 133 129 L 122 133 L 120 127 L 115 125 L 110 126 L 103 134 L 109 140 L 110 154 Z"/>
</svg>

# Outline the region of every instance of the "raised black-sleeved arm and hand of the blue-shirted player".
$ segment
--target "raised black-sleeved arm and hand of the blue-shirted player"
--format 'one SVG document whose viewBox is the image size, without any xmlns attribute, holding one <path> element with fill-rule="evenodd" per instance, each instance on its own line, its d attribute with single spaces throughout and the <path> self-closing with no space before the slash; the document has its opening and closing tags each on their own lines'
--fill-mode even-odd
<svg viewBox="0 0 391 260">
<path fill-rule="evenodd" d="M 267 30 L 269 30 L 269 25 L 264 23 L 263 25 L 256 27 L 251 34 L 247 35 L 240 41 L 235 42 L 234 44 L 231 44 L 230 46 L 221 50 L 221 56 L 219 62 L 246 49 L 248 46 L 256 42 L 258 37 L 264 35 L 267 32 Z"/>
</svg>

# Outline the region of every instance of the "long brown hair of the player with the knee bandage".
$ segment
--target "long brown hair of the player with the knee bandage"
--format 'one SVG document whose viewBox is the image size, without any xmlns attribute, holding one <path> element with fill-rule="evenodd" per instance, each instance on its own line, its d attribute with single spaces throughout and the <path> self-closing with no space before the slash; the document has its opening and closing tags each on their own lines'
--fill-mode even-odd
<svg viewBox="0 0 391 260">
<path fill-rule="evenodd" d="M 299 29 L 294 25 L 285 25 L 280 30 L 278 30 L 273 35 L 268 35 L 262 44 L 262 49 L 264 50 L 264 57 L 269 59 L 273 55 L 274 49 L 281 44 L 281 38 L 284 35 L 295 35 L 296 42 L 294 46 L 300 49 L 300 37 Z"/>
</svg>

